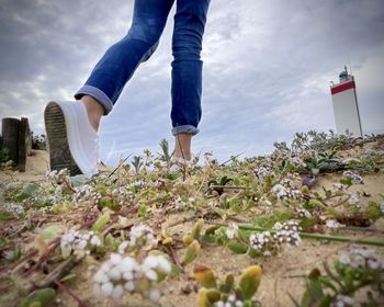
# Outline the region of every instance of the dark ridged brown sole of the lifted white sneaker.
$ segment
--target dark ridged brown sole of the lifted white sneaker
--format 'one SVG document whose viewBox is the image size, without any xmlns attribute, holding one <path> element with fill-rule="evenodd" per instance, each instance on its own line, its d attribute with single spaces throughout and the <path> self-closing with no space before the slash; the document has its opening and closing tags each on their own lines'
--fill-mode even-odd
<svg viewBox="0 0 384 307">
<path fill-rule="evenodd" d="M 61 107 L 54 101 L 44 111 L 50 170 L 68 169 L 70 175 L 81 174 L 69 150 L 67 126 Z"/>
</svg>

